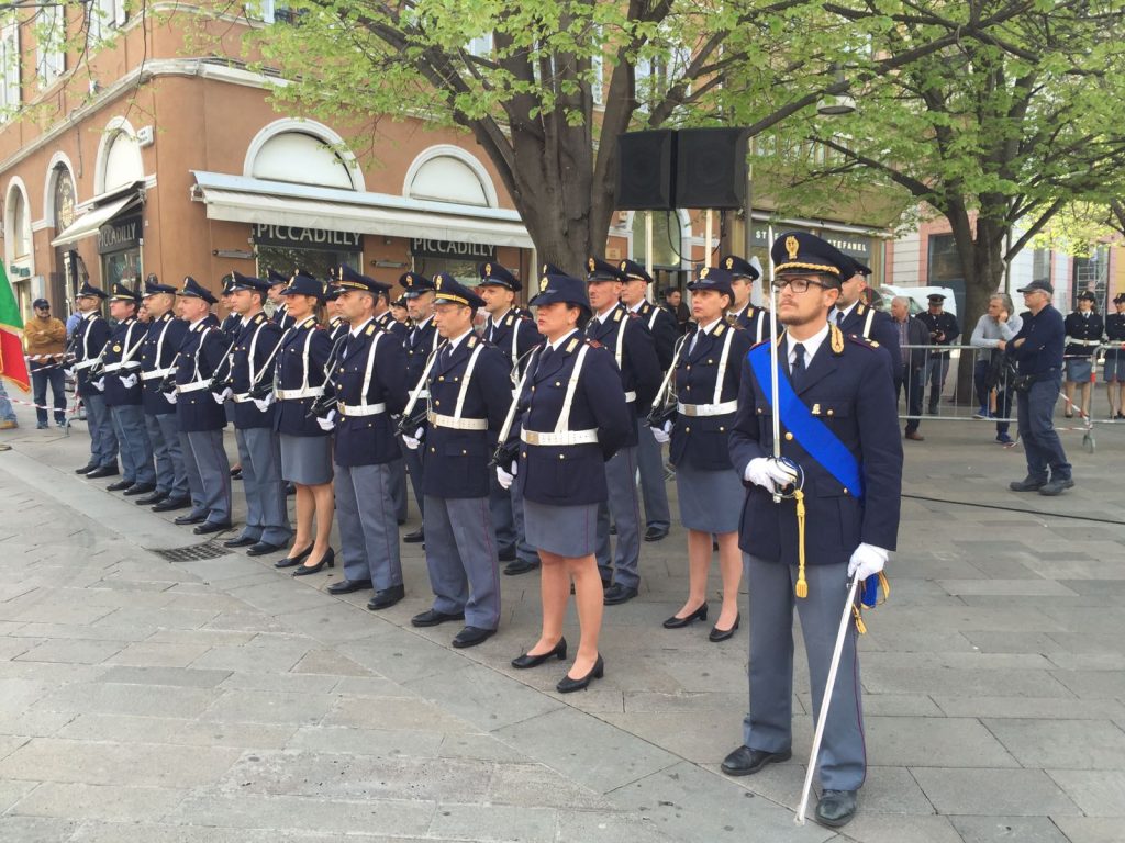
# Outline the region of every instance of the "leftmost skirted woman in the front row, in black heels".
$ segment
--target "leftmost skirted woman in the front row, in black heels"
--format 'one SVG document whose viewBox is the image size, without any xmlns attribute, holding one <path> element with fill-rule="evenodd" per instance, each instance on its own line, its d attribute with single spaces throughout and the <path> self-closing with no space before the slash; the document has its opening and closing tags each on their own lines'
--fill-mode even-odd
<svg viewBox="0 0 1125 843">
<path fill-rule="evenodd" d="M 297 487 L 297 534 L 289 555 L 273 565 L 302 565 L 292 572 L 294 577 L 300 577 L 335 564 L 335 553 L 328 546 L 333 510 L 332 425 L 308 415 L 313 401 L 324 395 L 324 368 L 332 341 L 316 321 L 324 284 L 306 275 L 294 275 L 281 296 L 286 315 L 294 323 L 278 350 L 276 424 L 281 439 L 281 477 Z"/>
</svg>

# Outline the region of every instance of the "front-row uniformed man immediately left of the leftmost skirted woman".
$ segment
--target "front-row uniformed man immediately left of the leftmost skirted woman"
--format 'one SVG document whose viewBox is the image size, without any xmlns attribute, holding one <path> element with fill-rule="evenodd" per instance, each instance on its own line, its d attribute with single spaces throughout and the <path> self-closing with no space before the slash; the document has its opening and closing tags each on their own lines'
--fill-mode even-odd
<svg viewBox="0 0 1125 843">
<path fill-rule="evenodd" d="M 282 330 L 263 309 L 269 281 L 232 272 L 230 289 L 240 329 L 227 371 L 246 523 L 242 533 L 224 545 L 246 547 L 248 555 L 261 556 L 281 550 L 292 536 L 281 479 L 281 445 L 273 429 L 273 372 Z"/>
</svg>

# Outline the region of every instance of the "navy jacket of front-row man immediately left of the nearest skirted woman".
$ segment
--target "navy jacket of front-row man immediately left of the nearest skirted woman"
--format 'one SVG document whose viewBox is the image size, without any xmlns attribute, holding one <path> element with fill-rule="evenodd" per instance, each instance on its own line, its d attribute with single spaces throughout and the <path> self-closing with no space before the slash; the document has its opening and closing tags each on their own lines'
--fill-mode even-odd
<svg viewBox="0 0 1125 843">
<path fill-rule="evenodd" d="M 508 362 L 500 350 L 482 342 L 475 334 L 465 337 L 451 354 L 438 352 L 430 371 L 430 411 L 443 416 L 456 414 L 465 373 L 474 352 L 480 348 L 469 377 L 461 405 L 461 418 L 488 422 L 485 430 L 458 430 L 430 424 L 426 426 L 423 486 L 435 498 L 484 498 L 488 496 L 490 473 L 488 459 L 496 434 L 512 406 L 512 381 Z"/>
</svg>

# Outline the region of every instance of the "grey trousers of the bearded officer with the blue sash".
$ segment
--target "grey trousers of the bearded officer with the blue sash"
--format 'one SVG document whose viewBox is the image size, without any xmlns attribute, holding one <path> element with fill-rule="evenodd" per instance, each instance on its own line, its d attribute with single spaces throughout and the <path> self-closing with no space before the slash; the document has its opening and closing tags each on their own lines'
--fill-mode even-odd
<svg viewBox="0 0 1125 843">
<path fill-rule="evenodd" d="M 801 618 L 816 718 L 847 599 L 847 565 L 808 565 L 809 596 L 799 600 L 793 596 L 795 565 L 748 554 L 742 561 L 750 591 L 750 711 L 742 720 L 742 742 L 752 750 L 778 752 L 790 749 L 793 737 L 793 604 Z M 826 790 L 858 790 L 867 772 L 855 643 L 855 624 L 849 624 L 817 763 Z"/>
</svg>

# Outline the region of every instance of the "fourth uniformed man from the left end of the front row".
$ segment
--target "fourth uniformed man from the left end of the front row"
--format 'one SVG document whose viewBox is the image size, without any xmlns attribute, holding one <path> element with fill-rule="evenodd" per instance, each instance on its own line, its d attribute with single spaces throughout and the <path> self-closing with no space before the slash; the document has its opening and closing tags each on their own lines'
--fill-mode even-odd
<svg viewBox="0 0 1125 843">
<path fill-rule="evenodd" d="M 195 524 L 196 534 L 207 535 L 231 527 L 231 462 L 223 447 L 226 389 L 216 393 L 213 382 L 231 345 L 210 312 L 215 296 L 209 290 L 189 275 L 178 296 L 180 316 L 188 323 L 188 330 L 176 365 L 176 411 L 191 490 L 191 511 L 179 516 L 176 523 Z"/>
</svg>

